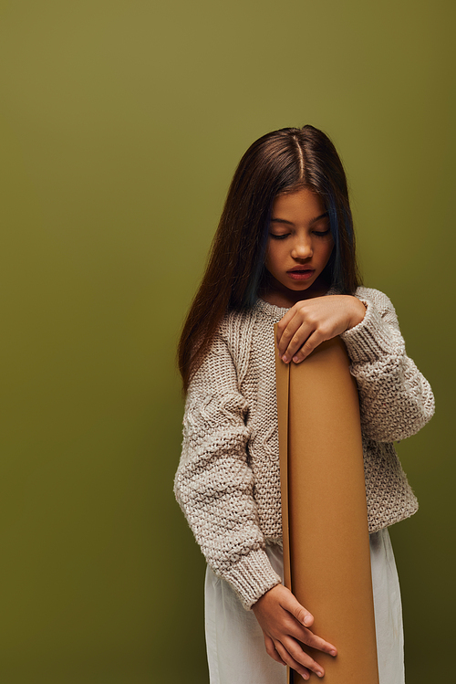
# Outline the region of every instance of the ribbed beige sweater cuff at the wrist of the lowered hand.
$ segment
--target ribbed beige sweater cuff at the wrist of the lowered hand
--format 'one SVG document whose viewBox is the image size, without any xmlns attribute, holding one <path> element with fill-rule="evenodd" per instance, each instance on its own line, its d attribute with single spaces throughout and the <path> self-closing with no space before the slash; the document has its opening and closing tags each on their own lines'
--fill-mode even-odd
<svg viewBox="0 0 456 684">
<path fill-rule="evenodd" d="M 275 573 L 266 552 L 261 549 L 252 551 L 233 565 L 224 574 L 225 579 L 233 585 L 239 594 L 244 608 L 251 608 L 275 584 L 282 580 Z"/>
</svg>

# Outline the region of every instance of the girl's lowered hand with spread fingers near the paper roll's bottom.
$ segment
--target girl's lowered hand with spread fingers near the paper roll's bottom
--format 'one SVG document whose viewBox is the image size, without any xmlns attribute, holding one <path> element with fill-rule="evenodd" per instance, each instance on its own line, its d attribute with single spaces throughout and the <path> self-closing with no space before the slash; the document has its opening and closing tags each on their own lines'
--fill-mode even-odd
<svg viewBox="0 0 456 684">
<path fill-rule="evenodd" d="M 301 647 L 301 643 L 337 656 L 337 648 L 308 627 L 312 616 L 283 584 L 276 584 L 253 606 L 254 616 L 263 629 L 266 652 L 282 665 L 295 669 L 301 677 L 309 679 L 310 670 L 323 677 L 325 670 Z M 301 643 L 299 643 L 301 642 Z"/>
</svg>

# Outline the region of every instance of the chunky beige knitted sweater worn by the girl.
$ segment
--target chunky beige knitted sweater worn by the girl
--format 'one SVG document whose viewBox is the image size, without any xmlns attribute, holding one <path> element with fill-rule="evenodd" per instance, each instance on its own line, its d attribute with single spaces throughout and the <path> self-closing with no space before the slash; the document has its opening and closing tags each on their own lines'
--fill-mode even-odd
<svg viewBox="0 0 456 684">
<path fill-rule="evenodd" d="M 358 383 L 372 532 L 418 509 L 392 443 L 418 432 L 434 401 L 388 297 L 367 288 L 356 296 L 365 318 L 341 338 Z M 285 311 L 257 300 L 224 317 L 189 388 L 174 485 L 207 562 L 245 608 L 280 583 L 264 546 L 282 537 L 273 326 Z"/>
</svg>

